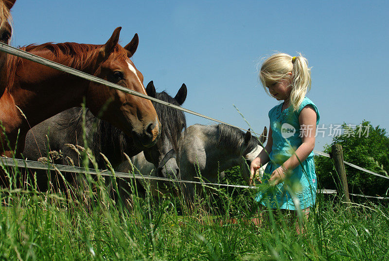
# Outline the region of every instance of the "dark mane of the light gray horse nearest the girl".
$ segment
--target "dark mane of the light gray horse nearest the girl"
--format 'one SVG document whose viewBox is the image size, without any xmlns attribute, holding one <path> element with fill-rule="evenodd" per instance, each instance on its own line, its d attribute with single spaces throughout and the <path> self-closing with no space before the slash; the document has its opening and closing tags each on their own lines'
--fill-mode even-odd
<svg viewBox="0 0 389 261">
<path fill-rule="evenodd" d="M 245 132 L 225 124 L 217 124 L 216 127 L 219 130 L 218 146 L 225 149 L 236 149 L 242 146 L 246 136 Z M 258 139 L 255 136 L 251 136 L 247 148 L 243 151 L 243 155 L 247 155 L 258 145 L 261 145 Z"/>
</svg>

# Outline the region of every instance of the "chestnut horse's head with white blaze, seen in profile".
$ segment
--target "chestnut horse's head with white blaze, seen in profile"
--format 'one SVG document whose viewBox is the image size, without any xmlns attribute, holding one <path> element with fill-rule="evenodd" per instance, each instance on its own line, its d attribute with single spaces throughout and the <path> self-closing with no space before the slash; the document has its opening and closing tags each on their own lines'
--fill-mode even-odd
<svg viewBox="0 0 389 261">
<path fill-rule="evenodd" d="M 130 60 L 138 47 L 138 35 L 135 34 L 131 42 L 123 48 L 118 44 L 120 30 L 121 27 L 116 28 L 99 50 L 94 75 L 146 94 L 143 75 Z M 138 146 L 151 147 L 157 143 L 161 127 L 150 100 L 91 82 L 87 93 L 87 106 L 94 115 L 115 123 L 115 127 L 131 136 Z M 101 108 L 104 108 L 102 112 Z"/>
</svg>

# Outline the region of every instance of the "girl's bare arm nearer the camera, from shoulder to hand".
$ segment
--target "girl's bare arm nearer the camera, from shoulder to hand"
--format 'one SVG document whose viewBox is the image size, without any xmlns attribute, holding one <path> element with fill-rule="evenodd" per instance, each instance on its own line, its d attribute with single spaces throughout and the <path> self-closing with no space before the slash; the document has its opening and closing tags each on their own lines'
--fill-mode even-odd
<svg viewBox="0 0 389 261">
<path fill-rule="evenodd" d="M 315 148 L 316 136 L 316 112 L 307 105 L 305 106 L 299 116 L 300 134 L 302 144 L 296 149 L 295 153 L 286 160 L 282 166 L 273 171 L 269 183 L 277 185 L 285 178 L 285 173 L 288 170 L 293 170 L 300 165 L 300 162 L 306 160 L 312 150 Z M 299 162 L 300 160 L 300 162 Z"/>
</svg>

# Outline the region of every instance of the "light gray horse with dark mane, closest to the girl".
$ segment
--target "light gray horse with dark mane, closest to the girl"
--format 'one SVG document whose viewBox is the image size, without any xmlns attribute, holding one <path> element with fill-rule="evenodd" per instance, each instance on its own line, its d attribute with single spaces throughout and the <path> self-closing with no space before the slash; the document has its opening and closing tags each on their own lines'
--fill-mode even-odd
<svg viewBox="0 0 389 261">
<path fill-rule="evenodd" d="M 180 167 L 180 180 L 219 183 L 224 178 L 224 170 L 240 166 L 242 177 L 250 177 L 249 166 L 258 156 L 266 141 L 267 129 L 257 139 L 251 132 L 243 132 L 224 124 L 199 125 L 188 127 L 182 137 L 181 149 L 177 153 Z M 131 158 L 135 167 L 135 174 L 157 176 L 153 164 L 147 162 L 143 153 Z M 131 170 L 130 163 L 124 162 L 119 168 L 121 172 Z M 263 172 L 263 169 L 260 170 Z M 142 186 L 150 186 L 152 195 L 166 193 L 156 181 L 143 180 Z M 180 187 L 184 197 L 192 202 L 195 196 L 195 185 L 182 183 Z M 201 189 L 200 189 L 201 190 Z"/>
</svg>

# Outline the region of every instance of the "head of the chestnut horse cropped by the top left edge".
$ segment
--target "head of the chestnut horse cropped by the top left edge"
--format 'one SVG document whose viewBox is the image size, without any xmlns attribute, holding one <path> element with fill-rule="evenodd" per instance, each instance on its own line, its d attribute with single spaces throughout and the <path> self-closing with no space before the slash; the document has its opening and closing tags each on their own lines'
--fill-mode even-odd
<svg viewBox="0 0 389 261">
<path fill-rule="evenodd" d="M 12 27 L 9 24 L 10 9 L 14 6 L 16 0 L 0 0 L 0 42 L 9 43 L 12 34 Z M 0 70 L 4 66 L 7 54 L 0 52 Z"/>
</svg>

